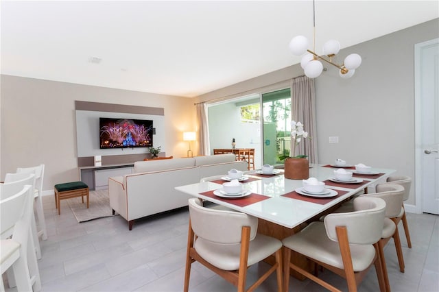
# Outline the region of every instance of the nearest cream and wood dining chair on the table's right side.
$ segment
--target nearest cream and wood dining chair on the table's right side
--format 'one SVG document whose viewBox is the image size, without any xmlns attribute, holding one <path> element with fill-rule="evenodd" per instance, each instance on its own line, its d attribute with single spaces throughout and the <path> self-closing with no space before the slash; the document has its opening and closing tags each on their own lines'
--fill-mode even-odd
<svg viewBox="0 0 439 292">
<path fill-rule="evenodd" d="M 348 291 L 357 291 L 357 284 L 375 265 L 379 288 L 385 291 L 378 243 L 383 231 L 385 202 L 375 197 L 357 197 L 353 205 L 353 212 L 331 213 L 324 217 L 324 222 L 311 222 L 297 234 L 283 239 L 283 285 L 286 291 L 290 269 L 330 291 L 339 291 L 318 278 L 317 265 L 345 278 Z M 316 275 L 291 263 L 292 251 L 311 260 Z"/>
</svg>

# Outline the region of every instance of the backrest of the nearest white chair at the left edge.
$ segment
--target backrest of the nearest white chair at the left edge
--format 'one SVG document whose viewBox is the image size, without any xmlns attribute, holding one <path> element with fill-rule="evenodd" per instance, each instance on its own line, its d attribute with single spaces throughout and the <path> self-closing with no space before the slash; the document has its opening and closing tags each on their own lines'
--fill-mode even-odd
<svg viewBox="0 0 439 292">
<path fill-rule="evenodd" d="M 1 239 L 6 239 L 11 235 L 13 239 L 14 236 L 19 236 L 19 239 L 21 239 L 22 236 L 29 234 L 30 216 L 33 214 L 32 202 L 34 196 L 32 190 L 33 186 L 26 185 L 14 195 L 0 199 Z M 21 228 L 24 231 L 20 230 Z M 25 234 L 21 234 L 22 232 Z"/>
</svg>

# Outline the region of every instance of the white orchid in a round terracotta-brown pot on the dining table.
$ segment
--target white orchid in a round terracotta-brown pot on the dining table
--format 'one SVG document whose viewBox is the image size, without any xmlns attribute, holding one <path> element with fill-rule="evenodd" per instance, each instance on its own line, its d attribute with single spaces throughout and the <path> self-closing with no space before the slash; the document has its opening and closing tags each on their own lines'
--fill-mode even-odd
<svg viewBox="0 0 439 292">
<path fill-rule="evenodd" d="M 296 154 L 296 146 L 302 141 L 302 138 L 307 138 L 308 132 L 303 130 L 303 124 L 296 121 L 291 121 L 291 141 L 293 149 L 290 153 L 292 156 L 283 157 L 285 159 L 285 178 L 291 180 L 306 180 L 309 178 L 309 162 L 306 155 Z"/>
</svg>

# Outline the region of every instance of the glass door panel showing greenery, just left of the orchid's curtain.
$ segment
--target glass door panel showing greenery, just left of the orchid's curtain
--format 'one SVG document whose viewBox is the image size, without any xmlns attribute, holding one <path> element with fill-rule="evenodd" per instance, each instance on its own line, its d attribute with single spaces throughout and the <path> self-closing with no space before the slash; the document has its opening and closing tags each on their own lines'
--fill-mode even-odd
<svg viewBox="0 0 439 292">
<path fill-rule="evenodd" d="M 278 165 L 291 149 L 291 90 L 262 95 L 263 164 Z"/>
</svg>

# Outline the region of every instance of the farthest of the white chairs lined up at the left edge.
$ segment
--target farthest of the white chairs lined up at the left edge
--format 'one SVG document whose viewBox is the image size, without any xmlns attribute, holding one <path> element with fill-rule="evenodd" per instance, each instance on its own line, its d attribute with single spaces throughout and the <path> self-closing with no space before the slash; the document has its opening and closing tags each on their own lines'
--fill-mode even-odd
<svg viewBox="0 0 439 292">
<path fill-rule="evenodd" d="M 45 241 L 47 239 L 46 220 L 43 210 L 43 180 L 44 180 L 45 165 L 38 165 L 36 167 L 19 167 L 16 169 L 17 173 L 35 173 L 35 208 L 36 216 L 38 218 L 38 236 Z"/>
</svg>

